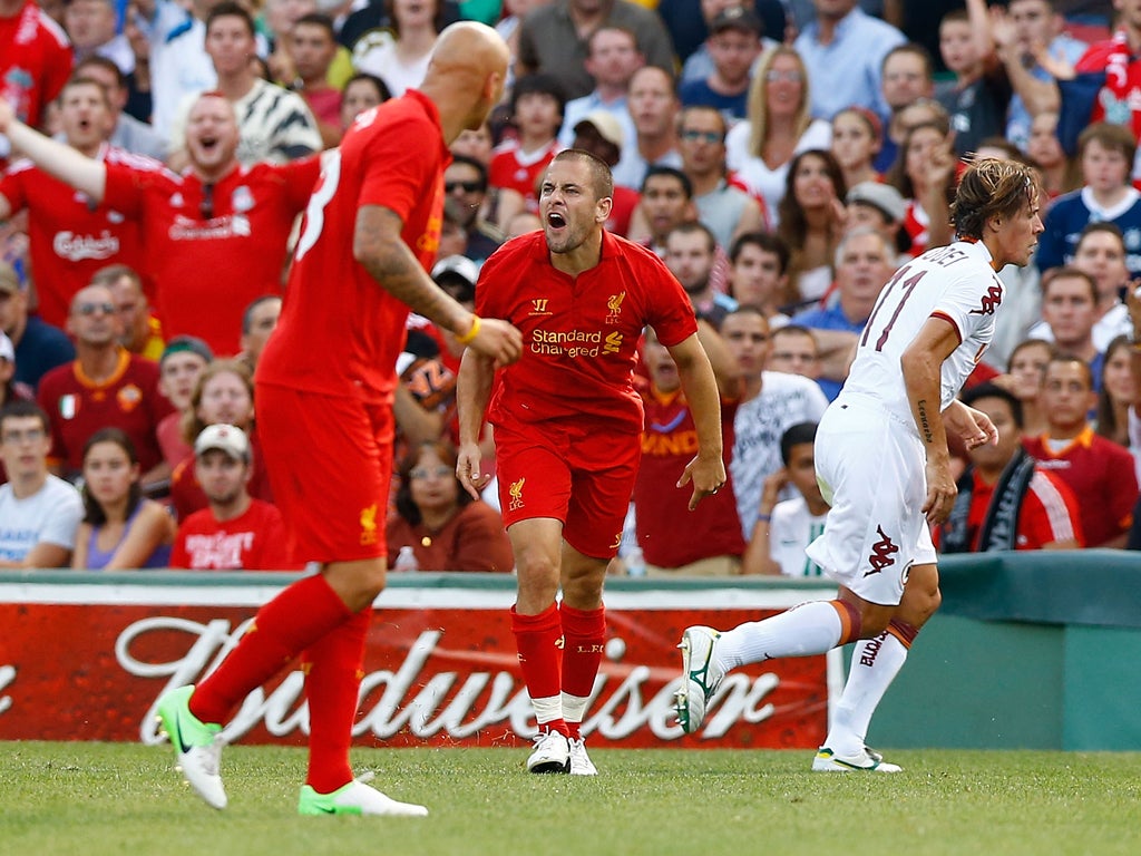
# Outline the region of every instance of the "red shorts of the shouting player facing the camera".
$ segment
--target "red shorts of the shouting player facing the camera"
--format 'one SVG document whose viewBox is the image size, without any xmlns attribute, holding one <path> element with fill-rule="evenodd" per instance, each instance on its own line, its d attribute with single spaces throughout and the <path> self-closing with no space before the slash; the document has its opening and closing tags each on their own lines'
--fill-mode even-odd
<svg viewBox="0 0 1141 856">
<path fill-rule="evenodd" d="M 563 522 L 563 538 L 578 552 L 609 559 L 641 459 L 639 435 L 585 427 L 495 426 L 495 470 L 503 525 L 535 517 Z"/>
</svg>

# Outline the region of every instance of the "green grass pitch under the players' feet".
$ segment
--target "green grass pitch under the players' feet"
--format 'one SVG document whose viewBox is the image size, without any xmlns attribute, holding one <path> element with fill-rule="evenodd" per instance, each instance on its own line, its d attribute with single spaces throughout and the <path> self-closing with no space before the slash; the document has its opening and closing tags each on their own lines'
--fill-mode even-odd
<svg viewBox="0 0 1141 856">
<path fill-rule="evenodd" d="M 168 746 L 0 742 L 13 856 L 719 856 L 1141 853 L 1141 753 L 905 751 L 899 775 L 812 774 L 796 751 L 599 750 L 597 778 L 531 776 L 527 750 L 355 750 L 418 818 L 298 817 L 300 749 L 230 746 L 229 808 Z"/>
</svg>

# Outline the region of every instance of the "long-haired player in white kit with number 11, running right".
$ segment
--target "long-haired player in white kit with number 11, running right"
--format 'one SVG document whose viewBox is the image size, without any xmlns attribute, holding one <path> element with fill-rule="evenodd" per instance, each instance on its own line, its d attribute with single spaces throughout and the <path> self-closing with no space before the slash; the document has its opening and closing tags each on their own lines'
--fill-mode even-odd
<svg viewBox="0 0 1141 856">
<path fill-rule="evenodd" d="M 865 640 L 812 769 L 899 770 L 864 740 L 912 639 L 939 606 L 929 525 L 946 520 L 955 500 L 947 435 L 969 449 L 997 441 L 990 420 L 955 396 L 994 336 L 1003 301 L 996 272 L 1027 265 L 1042 233 L 1033 169 L 973 162 L 952 220 L 955 242 L 904 265 L 880 293 L 817 431 L 817 479 L 832 509 L 808 557 L 840 583 L 836 598 L 723 632 L 688 628 L 677 694 L 687 734 L 729 670 Z"/>
</svg>

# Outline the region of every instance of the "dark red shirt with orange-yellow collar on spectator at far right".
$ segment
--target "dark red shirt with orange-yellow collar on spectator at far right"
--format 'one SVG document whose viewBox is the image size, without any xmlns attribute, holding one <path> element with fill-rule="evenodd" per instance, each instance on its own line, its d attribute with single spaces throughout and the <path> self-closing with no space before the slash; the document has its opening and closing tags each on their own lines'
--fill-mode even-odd
<svg viewBox="0 0 1141 856">
<path fill-rule="evenodd" d="M 1101 547 L 1127 532 L 1138 500 L 1133 455 L 1086 426 L 1061 452 L 1046 437 L 1026 437 L 1022 446 L 1038 466 L 1069 485 L 1077 499 L 1086 547 Z"/>
</svg>

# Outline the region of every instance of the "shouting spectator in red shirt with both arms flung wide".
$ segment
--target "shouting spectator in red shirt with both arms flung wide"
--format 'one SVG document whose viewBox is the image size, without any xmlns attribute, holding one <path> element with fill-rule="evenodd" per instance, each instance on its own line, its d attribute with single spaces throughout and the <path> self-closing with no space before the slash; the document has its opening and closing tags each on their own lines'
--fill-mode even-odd
<svg viewBox="0 0 1141 856">
<path fill-rule="evenodd" d="M 234 107 L 218 92 L 191 107 L 189 168 L 181 175 L 84 158 L 18 122 L 8 105 L 0 105 L 0 132 L 46 172 L 143 225 L 143 270 L 162 283 L 155 308 L 167 336 L 196 336 L 216 354 L 237 353 L 242 310 L 267 283 L 281 282 L 319 159 L 241 167 Z"/>
</svg>

